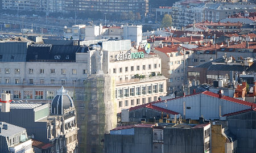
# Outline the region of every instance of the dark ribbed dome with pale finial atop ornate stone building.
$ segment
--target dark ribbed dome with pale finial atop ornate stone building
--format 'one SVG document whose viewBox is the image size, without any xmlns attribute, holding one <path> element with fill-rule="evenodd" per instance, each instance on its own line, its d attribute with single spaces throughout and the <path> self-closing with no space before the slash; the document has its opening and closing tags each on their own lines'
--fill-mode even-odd
<svg viewBox="0 0 256 153">
<path fill-rule="evenodd" d="M 63 114 L 64 109 L 74 107 L 73 100 L 68 95 L 68 91 L 64 90 L 63 87 L 57 91 L 57 95 L 52 100 L 51 113 L 52 114 Z"/>
</svg>

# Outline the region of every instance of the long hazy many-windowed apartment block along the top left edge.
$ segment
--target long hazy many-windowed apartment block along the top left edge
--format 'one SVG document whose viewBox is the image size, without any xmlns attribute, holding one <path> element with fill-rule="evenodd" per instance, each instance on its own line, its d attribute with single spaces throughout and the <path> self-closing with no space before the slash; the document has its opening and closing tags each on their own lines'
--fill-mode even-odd
<svg viewBox="0 0 256 153">
<path fill-rule="evenodd" d="M 2 1 L 2 9 L 11 10 L 29 10 L 29 11 L 44 11 L 44 12 L 86 12 L 86 11 L 101 11 L 106 13 L 122 13 L 133 12 L 139 13 L 141 16 L 146 16 L 148 13 L 148 0 L 133 0 L 133 1 L 85 1 L 78 0 L 29 0 L 29 1 Z"/>
</svg>

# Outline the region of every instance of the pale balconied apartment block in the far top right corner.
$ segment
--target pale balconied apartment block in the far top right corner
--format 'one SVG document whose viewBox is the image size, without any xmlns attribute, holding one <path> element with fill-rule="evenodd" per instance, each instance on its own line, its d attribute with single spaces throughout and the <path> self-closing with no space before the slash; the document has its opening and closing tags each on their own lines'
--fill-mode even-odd
<svg viewBox="0 0 256 153">
<path fill-rule="evenodd" d="M 178 1 L 172 6 L 172 25 L 181 29 L 188 24 L 212 21 L 219 22 L 239 12 L 254 12 L 255 5 L 213 3 L 203 1 Z"/>
</svg>

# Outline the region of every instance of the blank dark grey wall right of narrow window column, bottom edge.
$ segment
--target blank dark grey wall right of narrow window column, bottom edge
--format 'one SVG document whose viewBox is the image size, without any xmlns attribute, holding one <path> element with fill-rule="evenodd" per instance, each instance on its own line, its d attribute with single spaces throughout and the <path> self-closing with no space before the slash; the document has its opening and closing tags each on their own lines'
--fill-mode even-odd
<svg viewBox="0 0 256 153">
<path fill-rule="evenodd" d="M 164 152 L 204 152 L 204 129 L 164 128 Z"/>
</svg>

